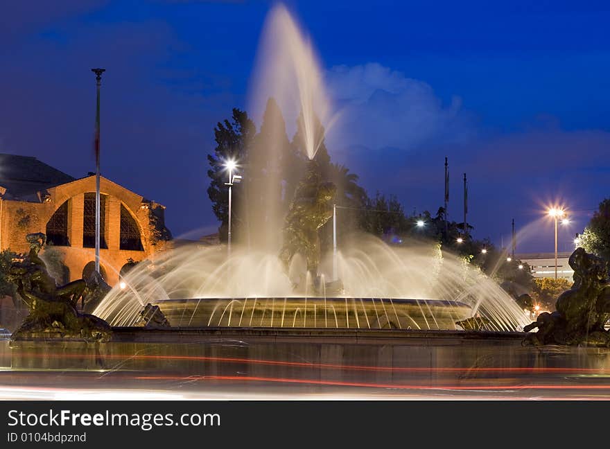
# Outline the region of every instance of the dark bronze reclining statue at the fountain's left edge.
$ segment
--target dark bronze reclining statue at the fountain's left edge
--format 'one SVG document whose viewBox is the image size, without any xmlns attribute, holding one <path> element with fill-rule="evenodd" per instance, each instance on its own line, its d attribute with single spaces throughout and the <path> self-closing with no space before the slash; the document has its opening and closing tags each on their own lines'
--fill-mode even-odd
<svg viewBox="0 0 610 449">
<path fill-rule="evenodd" d="M 83 279 L 57 285 L 38 256 L 46 243 L 42 233 L 28 234 L 30 252 L 23 261 L 12 263 L 8 279 L 17 285 L 17 292 L 28 306 L 29 314 L 13 337 L 37 337 L 40 333 L 60 333 L 62 337 L 105 340 L 110 326 L 94 315 L 78 312 L 78 299 L 89 293 Z"/>
</svg>

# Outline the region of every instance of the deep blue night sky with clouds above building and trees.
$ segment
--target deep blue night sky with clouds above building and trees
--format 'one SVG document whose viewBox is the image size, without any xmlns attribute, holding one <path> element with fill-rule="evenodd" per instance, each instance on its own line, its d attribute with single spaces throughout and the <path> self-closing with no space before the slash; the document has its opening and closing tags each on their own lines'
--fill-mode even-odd
<svg viewBox="0 0 610 449">
<path fill-rule="evenodd" d="M 167 206 L 175 237 L 216 231 L 206 155 L 216 122 L 247 107 L 265 1 L 4 1 L 0 152 L 75 177 L 94 170 L 95 77 L 104 67 L 105 177 Z M 607 1 L 288 1 L 333 104 L 331 157 L 369 194 L 435 212 L 449 158 L 450 219 L 462 174 L 477 238 L 553 250 L 546 204 L 571 224 L 610 196 Z M 249 111 L 255 117 L 261 111 Z M 286 117 L 290 130 L 293 118 Z M 260 123 L 258 123 L 260 125 Z M 236 193 L 237 194 L 237 193 Z M 529 224 L 529 225 L 528 225 Z"/>
</svg>

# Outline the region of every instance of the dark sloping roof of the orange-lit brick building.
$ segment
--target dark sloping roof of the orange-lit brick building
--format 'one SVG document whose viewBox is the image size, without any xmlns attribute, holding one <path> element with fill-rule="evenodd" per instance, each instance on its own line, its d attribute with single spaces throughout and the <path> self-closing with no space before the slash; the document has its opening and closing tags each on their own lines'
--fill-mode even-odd
<svg viewBox="0 0 610 449">
<path fill-rule="evenodd" d="M 38 192 L 74 179 L 35 157 L 0 153 L 0 186 L 7 200 L 40 202 Z"/>
</svg>

